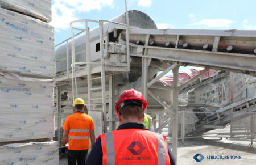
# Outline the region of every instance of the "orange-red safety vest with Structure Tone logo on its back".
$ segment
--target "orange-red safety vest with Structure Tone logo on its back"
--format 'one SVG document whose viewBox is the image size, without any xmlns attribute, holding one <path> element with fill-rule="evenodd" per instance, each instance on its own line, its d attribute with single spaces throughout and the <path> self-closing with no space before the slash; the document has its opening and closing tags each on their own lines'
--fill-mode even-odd
<svg viewBox="0 0 256 165">
<path fill-rule="evenodd" d="M 171 164 L 166 137 L 144 129 L 120 129 L 100 135 L 102 164 Z"/>
</svg>

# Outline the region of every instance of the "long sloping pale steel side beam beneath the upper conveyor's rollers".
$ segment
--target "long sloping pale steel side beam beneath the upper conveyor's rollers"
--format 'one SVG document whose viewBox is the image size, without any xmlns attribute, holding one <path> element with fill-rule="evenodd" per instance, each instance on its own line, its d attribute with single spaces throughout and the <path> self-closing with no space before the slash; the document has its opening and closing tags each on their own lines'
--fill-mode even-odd
<svg viewBox="0 0 256 165">
<path fill-rule="evenodd" d="M 162 48 L 146 46 L 148 57 L 164 58 L 166 60 L 187 62 L 204 66 L 225 69 L 253 71 L 256 70 L 256 57 L 248 54 L 210 52 L 191 49 Z"/>
</svg>

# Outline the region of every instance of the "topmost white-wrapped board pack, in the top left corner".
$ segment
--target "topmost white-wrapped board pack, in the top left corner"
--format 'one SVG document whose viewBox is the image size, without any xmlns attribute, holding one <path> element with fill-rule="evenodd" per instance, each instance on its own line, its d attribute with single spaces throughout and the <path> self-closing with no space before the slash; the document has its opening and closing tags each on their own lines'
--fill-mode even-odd
<svg viewBox="0 0 256 165">
<path fill-rule="evenodd" d="M 0 0 L 0 6 L 51 22 L 51 0 Z"/>
</svg>

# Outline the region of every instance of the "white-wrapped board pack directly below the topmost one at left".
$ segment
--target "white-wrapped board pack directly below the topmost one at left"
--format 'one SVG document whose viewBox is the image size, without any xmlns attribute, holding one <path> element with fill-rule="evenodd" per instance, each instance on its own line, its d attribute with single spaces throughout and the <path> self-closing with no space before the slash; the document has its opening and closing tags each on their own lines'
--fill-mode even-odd
<svg viewBox="0 0 256 165">
<path fill-rule="evenodd" d="M 0 8 L 0 71 L 55 77 L 54 29 Z"/>
</svg>

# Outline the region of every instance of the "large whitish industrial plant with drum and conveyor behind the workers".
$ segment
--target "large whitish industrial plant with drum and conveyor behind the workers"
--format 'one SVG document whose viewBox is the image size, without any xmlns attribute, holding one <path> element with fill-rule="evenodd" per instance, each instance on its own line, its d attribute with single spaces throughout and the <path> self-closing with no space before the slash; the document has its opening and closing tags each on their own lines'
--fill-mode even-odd
<svg viewBox="0 0 256 165">
<path fill-rule="evenodd" d="M 164 126 L 170 125 L 168 133 L 172 137 L 172 152 L 176 160 L 178 109 L 186 112 L 204 105 L 191 105 L 193 108 L 179 107 L 179 104 L 182 104 L 182 99 L 178 98 L 179 91 L 180 94 L 190 91 L 188 96 L 196 96 L 195 93 L 191 94 L 193 88 L 208 86 L 209 82 L 216 81 L 212 86 L 214 91 L 218 88 L 221 94 L 216 97 L 218 100 L 216 104 L 221 103 L 218 104 L 219 107 L 215 107 L 216 109 L 207 107 L 214 112 L 205 113 L 200 109 L 194 111 L 197 115 L 205 114 L 200 121 L 196 120 L 194 133 L 223 127 L 234 117 L 243 117 L 256 111 L 255 98 L 232 104 L 249 85 L 245 76 L 240 73 L 256 76 L 256 31 L 159 30 L 156 29 L 154 21 L 143 12 L 132 10 L 127 13 L 129 26 L 126 24 L 126 13 L 110 21 L 72 22 L 71 39 L 56 45 L 55 82 L 59 113 L 56 126 L 59 128 L 56 132 L 57 137 L 61 136 L 61 126 L 65 117 L 72 113 L 72 102 L 77 96 L 85 99 L 88 113 L 96 124 L 96 136 L 114 130 L 117 127 L 114 105 L 119 94 L 128 88 L 142 91 L 148 101 L 146 113 L 159 116 L 157 132 L 161 132 Z M 88 22 L 98 23 L 99 26 L 89 30 Z M 85 28 L 76 28 L 76 23 L 85 24 Z M 75 35 L 77 31 L 80 32 Z M 179 66 L 188 65 L 205 69 L 187 82 L 179 84 Z M 210 69 L 221 70 L 221 72 L 214 77 L 191 84 L 198 81 Z M 172 86 L 157 82 L 171 70 Z M 232 71 L 235 74 L 225 71 Z M 234 81 L 234 77 L 240 77 L 239 81 Z M 226 78 L 225 81 L 223 78 Z M 234 90 L 236 83 L 241 87 Z M 67 98 L 62 98 L 63 101 L 61 101 L 61 95 Z M 188 98 L 189 103 L 192 103 L 191 99 L 191 97 Z M 226 105 L 228 107 L 223 108 Z M 184 124 L 182 126 L 184 127 Z M 254 135 L 254 127 L 252 132 Z M 181 134 L 185 136 L 184 129 Z"/>
</svg>

